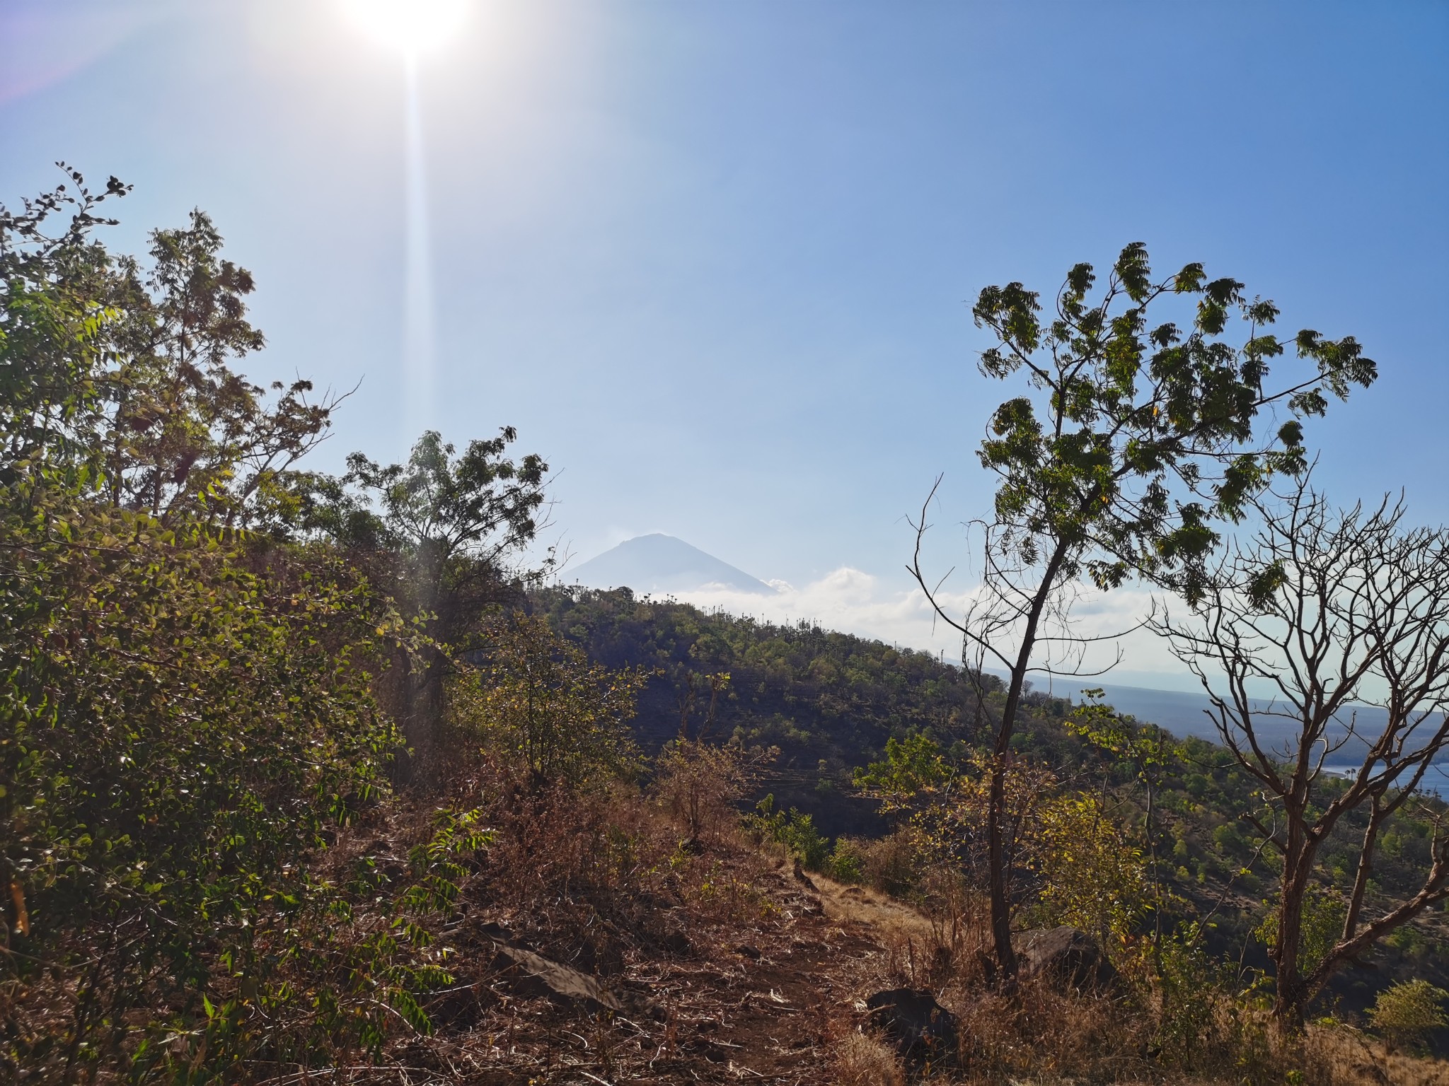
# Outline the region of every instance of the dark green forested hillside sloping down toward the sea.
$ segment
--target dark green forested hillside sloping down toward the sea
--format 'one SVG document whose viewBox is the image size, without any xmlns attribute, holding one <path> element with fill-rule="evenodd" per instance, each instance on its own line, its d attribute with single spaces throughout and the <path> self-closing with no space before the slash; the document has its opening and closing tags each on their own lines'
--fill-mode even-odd
<svg viewBox="0 0 1449 1086">
<path fill-rule="evenodd" d="M 810 626 L 771 626 L 706 613 L 672 599 L 635 598 L 627 589 L 556 588 L 533 597 L 556 628 L 614 668 L 653 672 L 635 723 L 645 749 L 680 734 L 765 744 L 780 757 L 753 782 L 753 798 L 809 814 L 826 837 L 882 835 L 898 818 L 856 776 L 885 757 L 887 743 L 924 737 L 969 766 L 1000 715 L 1003 682 L 972 681 L 929 653 Z M 729 676 L 711 698 L 710 676 Z M 1085 686 L 1090 679 L 1081 681 Z M 984 696 L 978 696 L 978 689 Z M 1082 704 L 1029 694 L 1030 712 L 1013 738 L 1022 757 L 1051 767 L 1064 789 L 1100 789 L 1110 817 L 1143 854 L 1155 857 L 1165 911 L 1174 925 L 1211 922 L 1214 953 L 1266 969 L 1261 933 L 1269 915 L 1274 856 L 1249 821 L 1262 807 L 1255 782 L 1224 747 L 1175 738 L 1151 721 L 1124 724 L 1153 747 L 1153 824 L 1146 825 L 1146 780 L 1120 752 L 1090 741 Z M 1336 788 L 1342 792 L 1346 782 Z M 1332 798 L 1333 791 L 1329 791 Z M 1430 859 L 1435 820 L 1445 805 L 1427 798 L 1384 834 L 1377 882 L 1387 899 L 1411 893 Z M 1320 893 L 1348 880 L 1365 818 L 1350 818 L 1324 850 Z M 829 863 L 822 862 L 826 869 Z M 1327 917 L 1337 917 L 1332 904 Z M 1403 928 L 1372 961 L 1340 975 L 1332 998 L 1364 1009 L 1390 980 L 1423 976 L 1449 983 L 1449 924 L 1442 912 Z"/>
</svg>

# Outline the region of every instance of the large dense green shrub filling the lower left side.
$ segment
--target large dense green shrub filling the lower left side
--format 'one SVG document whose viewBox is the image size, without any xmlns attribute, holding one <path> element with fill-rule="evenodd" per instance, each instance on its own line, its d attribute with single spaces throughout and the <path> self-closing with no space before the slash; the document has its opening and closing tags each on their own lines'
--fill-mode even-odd
<svg viewBox="0 0 1449 1086">
<path fill-rule="evenodd" d="M 175 1035 L 225 1067 L 339 901 L 309 859 L 385 791 L 387 608 L 323 556 L 264 566 L 199 527 L 4 498 L 0 879 L 26 917 L 0 957 L 0 1066 L 93 1074 Z M 346 1006 L 349 985 L 317 999 Z"/>
</svg>

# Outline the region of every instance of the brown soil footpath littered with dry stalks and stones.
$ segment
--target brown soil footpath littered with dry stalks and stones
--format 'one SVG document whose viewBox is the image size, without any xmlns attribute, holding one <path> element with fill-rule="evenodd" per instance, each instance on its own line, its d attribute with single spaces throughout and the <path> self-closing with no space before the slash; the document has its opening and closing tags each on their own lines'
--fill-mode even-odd
<svg viewBox="0 0 1449 1086">
<path fill-rule="evenodd" d="M 488 956 L 506 928 L 469 921 L 456 934 L 459 983 L 429 1008 L 436 1034 L 397 1051 L 397 1064 L 413 1083 L 480 1086 L 832 1082 L 832 1041 L 864 1018 L 858 1001 L 885 985 L 881 925 L 909 911 L 891 902 L 872 915 L 853 888 L 801 882 L 784 864 L 722 863 L 751 876 L 759 915 L 691 917 L 687 947 L 626 961 L 609 985 L 640 1008 L 630 1014 L 591 1012 L 519 985 Z M 378 1072 L 378 1082 L 398 1082 L 397 1067 Z"/>
</svg>

